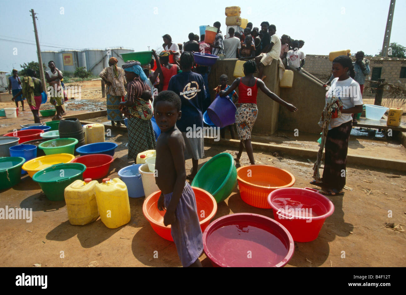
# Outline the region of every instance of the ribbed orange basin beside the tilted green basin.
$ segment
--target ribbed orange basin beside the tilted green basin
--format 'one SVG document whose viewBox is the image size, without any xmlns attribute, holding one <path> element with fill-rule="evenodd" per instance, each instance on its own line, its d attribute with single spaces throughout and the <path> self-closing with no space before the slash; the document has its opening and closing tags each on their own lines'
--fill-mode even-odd
<svg viewBox="0 0 406 295">
<path fill-rule="evenodd" d="M 288 171 L 269 165 L 249 165 L 237 169 L 241 199 L 257 208 L 272 208 L 267 197 L 275 189 L 292 187 L 295 177 Z"/>
</svg>

